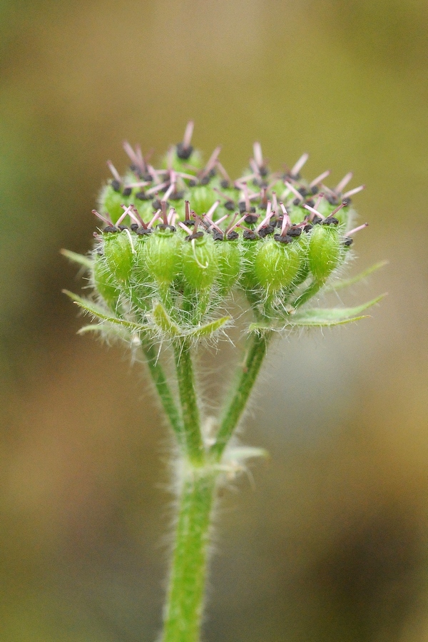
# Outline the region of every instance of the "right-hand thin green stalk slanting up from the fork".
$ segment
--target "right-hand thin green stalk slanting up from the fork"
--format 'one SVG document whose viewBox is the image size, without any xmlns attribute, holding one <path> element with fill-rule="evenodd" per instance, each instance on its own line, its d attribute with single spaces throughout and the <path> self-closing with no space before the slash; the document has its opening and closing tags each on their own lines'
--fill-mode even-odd
<svg viewBox="0 0 428 642">
<path fill-rule="evenodd" d="M 211 447 L 211 453 L 215 459 L 219 460 L 228 444 L 232 433 L 237 426 L 245 406 L 250 397 L 251 390 L 257 379 L 260 366 L 266 355 L 267 344 L 269 343 L 272 332 L 263 334 L 253 333 L 253 340 L 250 342 L 245 360 L 240 367 L 238 382 L 235 386 L 233 397 L 223 413 L 223 419 L 220 422 L 217 439 Z"/>
</svg>

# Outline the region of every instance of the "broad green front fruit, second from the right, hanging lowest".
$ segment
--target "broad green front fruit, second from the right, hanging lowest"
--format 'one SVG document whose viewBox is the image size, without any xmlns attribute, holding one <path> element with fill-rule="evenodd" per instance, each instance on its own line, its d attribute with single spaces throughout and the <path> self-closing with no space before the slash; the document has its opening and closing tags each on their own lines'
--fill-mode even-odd
<svg viewBox="0 0 428 642">
<path fill-rule="evenodd" d="M 300 248 L 295 241 L 265 240 L 255 258 L 254 273 L 270 298 L 283 287 L 290 287 L 300 269 Z"/>
</svg>

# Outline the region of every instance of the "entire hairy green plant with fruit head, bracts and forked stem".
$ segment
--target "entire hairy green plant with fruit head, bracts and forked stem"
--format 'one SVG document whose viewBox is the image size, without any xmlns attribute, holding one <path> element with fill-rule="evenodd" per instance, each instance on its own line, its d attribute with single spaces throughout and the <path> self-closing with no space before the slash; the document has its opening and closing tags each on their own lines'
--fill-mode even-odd
<svg viewBox="0 0 428 642">
<path fill-rule="evenodd" d="M 177 515 L 162 642 L 200 640 L 216 490 L 263 454 L 230 443 L 273 335 L 359 320 L 380 298 L 353 308 L 307 306 L 326 286 L 340 287 L 337 269 L 367 225 L 350 230 L 350 197 L 363 188 L 343 192 L 352 173 L 335 189 L 322 183 L 328 170 L 303 180 L 307 154 L 291 170 L 272 172 L 255 143 L 248 170 L 231 181 L 220 148 L 203 165 L 192 134 L 188 123 L 158 169 L 125 143 L 131 164 L 122 176 L 108 162 L 113 178 L 93 210 L 102 225 L 92 252 L 63 251 L 93 287 L 86 299 L 66 292 L 95 320 L 80 332 L 116 338 L 141 355 L 176 439 Z M 252 315 L 246 325 L 248 315 L 236 315 L 237 298 Z M 217 429 L 206 434 L 193 353 L 232 324 L 247 335 L 246 351 Z M 173 355 L 173 377 L 161 365 L 165 351 Z"/>
</svg>

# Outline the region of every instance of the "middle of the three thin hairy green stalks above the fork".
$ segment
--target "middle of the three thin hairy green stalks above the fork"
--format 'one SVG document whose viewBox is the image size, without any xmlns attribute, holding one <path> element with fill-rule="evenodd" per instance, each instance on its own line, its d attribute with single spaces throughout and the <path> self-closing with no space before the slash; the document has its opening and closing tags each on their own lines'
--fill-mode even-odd
<svg viewBox="0 0 428 642">
<path fill-rule="evenodd" d="M 190 461 L 200 466 L 203 464 L 205 452 L 200 430 L 190 341 L 186 339 L 175 341 L 174 352 L 178 392 L 180 394 L 180 404 L 183 413 L 185 449 Z"/>
</svg>

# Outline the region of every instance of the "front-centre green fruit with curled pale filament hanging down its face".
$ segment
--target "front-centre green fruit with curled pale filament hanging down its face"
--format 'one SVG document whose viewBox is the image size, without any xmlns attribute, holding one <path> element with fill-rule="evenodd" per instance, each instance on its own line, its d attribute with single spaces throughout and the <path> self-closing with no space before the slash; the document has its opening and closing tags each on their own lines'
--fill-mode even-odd
<svg viewBox="0 0 428 642">
<path fill-rule="evenodd" d="M 183 276 L 192 290 L 208 290 L 218 275 L 218 260 L 213 238 L 196 233 L 183 245 Z"/>
</svg>

